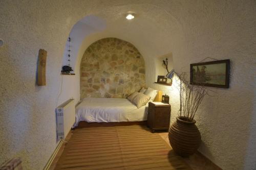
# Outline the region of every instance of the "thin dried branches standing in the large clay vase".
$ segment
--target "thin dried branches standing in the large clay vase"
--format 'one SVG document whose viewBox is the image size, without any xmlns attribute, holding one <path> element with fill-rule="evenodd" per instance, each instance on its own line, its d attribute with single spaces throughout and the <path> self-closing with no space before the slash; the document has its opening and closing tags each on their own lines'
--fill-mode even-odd
<svg viewBox="0 0 256 170">
<path fill-rule="evenodd" d="M 208 90 L 205 86 L 190 85 L 186 81 L 186 73 L 181 75 L 176 75 L 179 77 L 177 84 L 179 85 L 180 92 L 180 110 L 178 116 L 182 117 L 183 120 L 188 122 L 193 122 L 194 116 L 202 103 L 205 95 L 208 95 Z"/>
</svg>

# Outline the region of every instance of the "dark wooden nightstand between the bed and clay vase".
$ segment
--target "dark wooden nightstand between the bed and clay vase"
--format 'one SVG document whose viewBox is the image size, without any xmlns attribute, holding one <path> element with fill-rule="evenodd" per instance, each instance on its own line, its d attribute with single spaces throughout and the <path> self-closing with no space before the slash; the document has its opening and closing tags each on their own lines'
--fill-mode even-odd
<svg viewBox="0 0 256 170">
<path fill-rule="evenodd" d="M 170 105 L 162 102 L 148 103 L 147 126 L 155 130 L 168 130 L 170 126 Z"/>
</svg>

